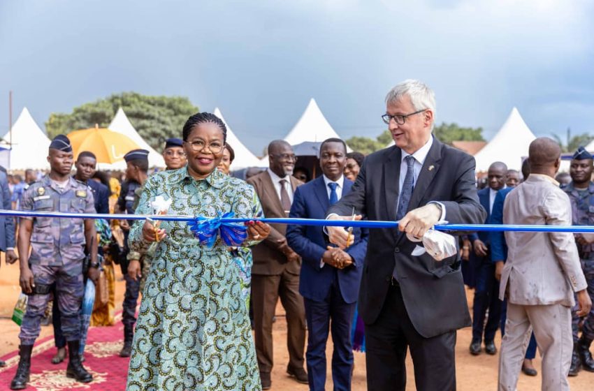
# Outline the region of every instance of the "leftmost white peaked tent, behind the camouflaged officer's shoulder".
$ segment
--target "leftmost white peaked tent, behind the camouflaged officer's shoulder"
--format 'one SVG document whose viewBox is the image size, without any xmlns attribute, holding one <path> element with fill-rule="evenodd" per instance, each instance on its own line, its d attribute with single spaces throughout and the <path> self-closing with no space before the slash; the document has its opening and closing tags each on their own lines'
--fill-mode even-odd
<svg viewBox="0 0 594 391">
<path fill-rule="evenodd" d="M 9 170 L 45 170 L 50 168 L 48 149 L 50 139 L 36 124 L 27 108 L 22 109 L 13 125 L 12 150 L 10 151 Z M 3 135 L 5 142 L 10 142 L 10 133 Z"/>
</svg>

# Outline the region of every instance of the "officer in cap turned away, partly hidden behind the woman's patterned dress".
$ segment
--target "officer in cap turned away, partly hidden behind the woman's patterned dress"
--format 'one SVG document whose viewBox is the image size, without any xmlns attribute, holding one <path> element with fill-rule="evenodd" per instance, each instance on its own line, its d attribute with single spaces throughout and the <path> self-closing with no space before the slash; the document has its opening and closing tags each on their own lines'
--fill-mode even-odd
<svg viewBox="0 0 594 391">
<path fill-rule="evenodd" d="M 138 205 L 142 185 L 148 177 L 148 154 L 146 149 L 133 149 L 124 155 L 126 161 L 126 182 L 122 185 L 122 192 L 117 200 L 117 205 L 126 211 L 127 214 L 134 214 Z M 124 323 L 124 347 L 119 351 L 120 357 L 130 357 L 132 352 L 132 340 L 134 337 L 134 323 L 136 323 L 136 303 L 140 291 L 141 257 L 140 253 L 130 251 L 128 247 L 129 225 L 133 221 L 124 223 L 124 246 L 126 261 L 122 262 L 122 274 L 126 281 L 126 293 L 122 304 L 122 323 Z M 127 229 L 126 229 L 127 228 Z M 133 272 L 131 272 L 133 270 Z"/>
</svg>

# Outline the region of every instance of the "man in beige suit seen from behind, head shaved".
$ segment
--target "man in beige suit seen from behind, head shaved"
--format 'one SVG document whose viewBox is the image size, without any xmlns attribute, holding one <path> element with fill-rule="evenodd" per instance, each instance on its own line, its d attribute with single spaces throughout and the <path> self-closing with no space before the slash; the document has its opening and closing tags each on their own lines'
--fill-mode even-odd
<svg viewBox="0 0 594 391">
<path fill-rule="evenodd" d="M 560 149 L 550 138 L 530 144 L 530 177 L 511 191 L 504 224 L 570 226 L 571 205 L 553 179 Z M 499 390 L 516 390 L 531 329 L 542 354 L 542 390 L 569 390 L 572 355 L 571 307 L 579 313 L 592 302 L 572 233 L 506 232 L 508 252 L 500 299 L 507 297 L 507 322 L 499 360 Z"/>
</svg>

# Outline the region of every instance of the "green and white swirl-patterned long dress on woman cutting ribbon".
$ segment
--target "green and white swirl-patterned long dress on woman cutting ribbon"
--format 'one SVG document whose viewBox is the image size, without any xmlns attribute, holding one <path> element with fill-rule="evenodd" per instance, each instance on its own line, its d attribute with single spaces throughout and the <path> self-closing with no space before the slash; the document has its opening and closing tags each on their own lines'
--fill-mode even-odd
<svg viewBox="0 0 594 391">
<path fill-rule="evenodd" d="M 187 168 L 158 172 L 145 182 L 138 214 L 152 214 L 157 195 L 172 199 L 168 214 L 252 217 L 256 192 L 215 170 L 196 181 Z M 145 251 L 143 223 L 129 244 Z M 127 390 L 260 390 L 254 341 L 238 268 L 217 240 L 201 246 L 186 223 L 163 221 L 167 236 L 154 254 L 136 323 Z"/>
</svg>

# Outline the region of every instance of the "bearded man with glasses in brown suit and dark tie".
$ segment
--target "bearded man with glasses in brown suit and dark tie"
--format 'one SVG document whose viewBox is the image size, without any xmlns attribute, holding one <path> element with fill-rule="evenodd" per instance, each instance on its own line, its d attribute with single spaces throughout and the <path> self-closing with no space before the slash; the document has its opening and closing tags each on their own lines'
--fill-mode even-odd
<svg viewBox="0 0 594 391">
<path fill-rule="evenodd" d="M 295 189 L 302 184 L 291 177 L 296 157 L 288 142 L 275 140 L 268 145 L 270 168 L 248 179 L 254 186 L 264 216 L 287 217 L 291 210 Z M 252 304 L 254 306 L 254 339 L 260 369 L 262 388 L 271 387 L 270 371 L 273 369 L 273 317 L 278 298 L 287 311 L 287 345 L 289 365 L 287 373 L 299 383 L 307 384 L 303 369 L 305 360 L 305 308 L 299 295 L 299 270 L 301 258 L 289 244 L 285 233 L 287 226 L 270 224 L 268 238 L 252 248 Z"/>
</svg>

